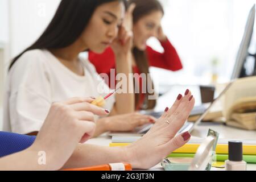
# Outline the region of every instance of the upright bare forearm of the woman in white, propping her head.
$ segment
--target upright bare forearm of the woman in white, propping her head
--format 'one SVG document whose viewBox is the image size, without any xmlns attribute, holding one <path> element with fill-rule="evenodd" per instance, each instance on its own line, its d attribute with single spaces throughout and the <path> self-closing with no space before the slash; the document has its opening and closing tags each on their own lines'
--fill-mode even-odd
<svg viewBox="0 0 256 182">
<path fill-rule="evenodd" d="M 116 72 L 122 73 L 126 79 L 117 82 L 117 85 L 122 85 L 122 90 L 125 93 L 115 94 L 114 109 L 117 114 L 132 113 L 135 110 L 133 70 L 132 70 L 132 55 L 131 52 L 122 55 L 116 55 Z"/>
</svg>

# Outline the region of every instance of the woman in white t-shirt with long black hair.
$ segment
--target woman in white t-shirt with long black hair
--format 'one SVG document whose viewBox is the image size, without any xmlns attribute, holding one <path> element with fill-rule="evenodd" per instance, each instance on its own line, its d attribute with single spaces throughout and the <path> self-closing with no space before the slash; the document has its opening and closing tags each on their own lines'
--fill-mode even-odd
<svg viewBox="0 0 256 182">
<path fill-rule="evenodd" d="M 85 50 L 101 53 L 111 45 L 117 59 L 117 73 L 126 77 L 132 73 L 129 22 L 133 7 L 127 11 L 123 23 L 123 2 L 61 1 L 40 38 L 10 64 L 5 91 L 5 131 L 37 134 L 52 102 L 105 96 L 110 92 L 93 65 L 79 56 Z M 133 90 L 133 79 L 125 83 Z M 133 113 L 133 93 L 115 94 L 104 108 L 110 116 L 97 118 L 96 136 L 105 131 L 130 131 L 155 120 Z"/>
</svg>

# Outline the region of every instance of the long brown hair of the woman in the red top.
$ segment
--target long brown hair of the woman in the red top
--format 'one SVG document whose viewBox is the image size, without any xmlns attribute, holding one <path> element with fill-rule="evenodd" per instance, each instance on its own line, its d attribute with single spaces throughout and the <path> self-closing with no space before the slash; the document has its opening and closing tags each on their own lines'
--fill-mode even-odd
<svg viewBox="0 0 256 182">
<path fill-rule="evenodd" d="M 158 0 L 130 0 L 129 5 L 131 3 L 135 3 L 136 7 L 133 11 L 133 23 L 137 23 L 139 19 L 141 19 L 143 16 L 146 16 L 153 11 L 161 11 L 164 15 L 163 6 L 160 4 Z M 148 58 L 145 51 L 140 51 L 138 48 L 134 47 L 133 49 L 133 55 L 135 57 L 135 62 L 137 64 L 137 67 L 141 73 L 145 73 L 146 75 L 149 72 L 149 65 L 148 65 Z M 152 83 L 152 79 L 147 80 L 148 82 Z M 154 84 L 152 83 L 152 89 L 154 89 Z M 154 93 L 148 93 L 146 94 L 145 100 L 144 100 L 144 106 L 142 109 L 153 109 L 156 105 L 156 100 L 148 100 L 148 96 L 154 95 Z M 139 106 L 139 94 L 135 93 L 135 104 L 136 107 Z M 140 108 L 139 108 L 140 109 Z"/>
</svg>

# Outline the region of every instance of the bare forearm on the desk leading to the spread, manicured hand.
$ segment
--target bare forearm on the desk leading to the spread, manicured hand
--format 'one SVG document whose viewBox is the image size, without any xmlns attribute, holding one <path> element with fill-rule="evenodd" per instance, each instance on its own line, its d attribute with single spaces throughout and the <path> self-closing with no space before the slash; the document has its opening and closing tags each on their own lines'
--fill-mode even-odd
<svg viewBox="0 0 256 182">
<path fill-rule="evenodd" d="M 104 147 L 79 144 L 63 169 L 97 166 L 109 163 L 129 163 L 126 147 Z"/>
</svg>

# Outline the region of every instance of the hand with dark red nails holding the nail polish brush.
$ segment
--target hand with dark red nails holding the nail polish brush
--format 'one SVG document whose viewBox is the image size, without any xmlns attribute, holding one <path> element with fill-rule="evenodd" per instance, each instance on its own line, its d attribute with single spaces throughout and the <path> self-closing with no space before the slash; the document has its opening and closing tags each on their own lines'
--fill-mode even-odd
<svg viewBox="0 0 256 182">
<path fill-rule="evenodd" d="M 92 137 L 96 124 L 94 114 L 105 116 L 101 107 L 90 104 L 92 98 L 72 98 L 52 104 L 47 118 L 31 148 L 44 151 L 47 162 L 61 168 L 79 142 Z"/>
</svg>

